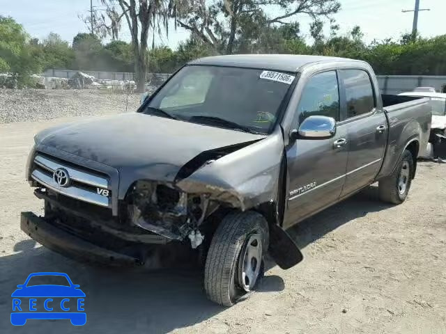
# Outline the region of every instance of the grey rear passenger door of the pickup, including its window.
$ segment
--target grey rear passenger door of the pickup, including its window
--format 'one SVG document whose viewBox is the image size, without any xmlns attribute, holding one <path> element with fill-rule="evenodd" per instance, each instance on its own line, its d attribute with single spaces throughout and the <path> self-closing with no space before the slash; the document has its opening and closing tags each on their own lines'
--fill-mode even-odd
<svg viewBox="0 0 446 334">
<path fill-rule="evenodd" d="M 347 175 L 341 197 L 370 184 L 383 162 L 387 143 L 387 120 L 377 104 L 371 77 L 360 69 L 338 70 L 341 94 L 341 124 L 348 132 Z"/>
</svg>

